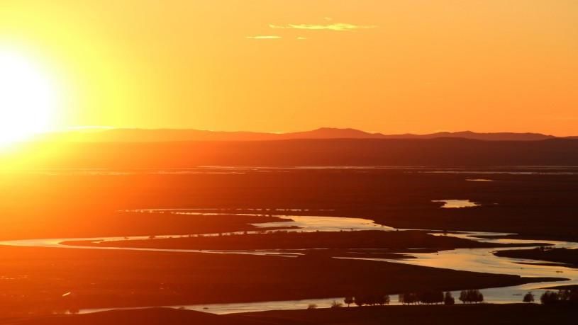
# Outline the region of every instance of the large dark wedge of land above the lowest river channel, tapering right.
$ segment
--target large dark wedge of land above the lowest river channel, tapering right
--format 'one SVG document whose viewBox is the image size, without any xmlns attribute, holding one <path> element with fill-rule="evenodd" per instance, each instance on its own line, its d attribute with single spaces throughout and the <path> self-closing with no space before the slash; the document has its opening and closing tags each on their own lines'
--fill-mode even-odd
<svg viewBox="0 0 578 325">
<path fill-rule="evenodd" d="M 0 270 L 0 315 L 4 317 L 100 307 L 462 290 L 545 280 L 328 256 L 283 258 L 2 246 Z"/>
</svg>

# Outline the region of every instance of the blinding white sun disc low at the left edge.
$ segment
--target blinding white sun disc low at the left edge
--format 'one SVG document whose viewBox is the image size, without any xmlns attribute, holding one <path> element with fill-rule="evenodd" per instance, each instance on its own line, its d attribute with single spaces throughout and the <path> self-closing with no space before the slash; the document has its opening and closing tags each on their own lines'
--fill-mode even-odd
<svg viewBox="0 0 578 325">
<path fill-rule="evenodd" d="M 0 147 L 47 131 L 55 95 L 48 76 L 34 62 L 0 49 Z"/>
</svg>

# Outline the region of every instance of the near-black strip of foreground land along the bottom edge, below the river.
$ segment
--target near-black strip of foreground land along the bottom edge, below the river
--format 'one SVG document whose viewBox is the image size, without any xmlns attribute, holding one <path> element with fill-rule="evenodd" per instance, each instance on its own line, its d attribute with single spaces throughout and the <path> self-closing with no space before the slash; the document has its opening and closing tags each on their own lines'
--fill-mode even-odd
<svg viewBox="0 0 578 325">
<path fill-rule="evenodd" d="M 289 325 L 289 324 L 576 324 L 573 307 L 537 304 L 342 307 L 212 315 L 177 309 L 141 309 L 0 321 L 2 325 Z"/>
</svg>

